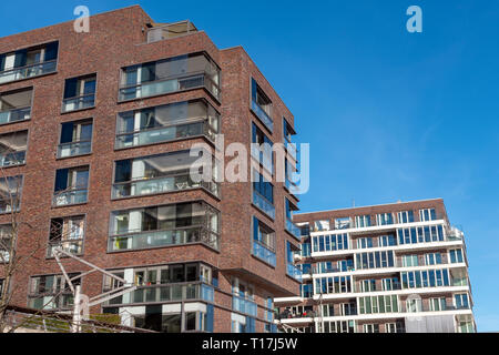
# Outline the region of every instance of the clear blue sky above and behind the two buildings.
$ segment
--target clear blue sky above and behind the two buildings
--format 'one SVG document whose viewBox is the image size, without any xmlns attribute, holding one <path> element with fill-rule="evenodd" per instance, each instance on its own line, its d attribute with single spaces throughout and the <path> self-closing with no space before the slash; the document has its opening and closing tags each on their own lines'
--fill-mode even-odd
<svg viewBox="0 0 499 355">
<path fill-rule="evenodd" d="M 499 331 L 499 2 L 0 2 L 0 37 L 140 3 L 242 44 L 310 143 L 302 211 L 444 197 L 467 236 L 478 329 Z M 406 9 L 422 9 L 422 33 Z M 35 9 L 35 10 L 34 10 Z"/>
</svg>

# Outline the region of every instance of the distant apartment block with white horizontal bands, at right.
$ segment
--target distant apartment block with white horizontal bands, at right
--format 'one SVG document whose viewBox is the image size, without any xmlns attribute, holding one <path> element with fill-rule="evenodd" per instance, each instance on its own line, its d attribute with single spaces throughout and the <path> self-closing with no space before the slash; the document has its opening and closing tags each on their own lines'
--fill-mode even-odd
<svg viewBox="0 0 499 355">
<path fill-rule="evenodd" d="M 476 332 L 464 233 L 441 199 L 294 215 L 301 295 L 276 298 L 284 331 Z"/>
</svg>

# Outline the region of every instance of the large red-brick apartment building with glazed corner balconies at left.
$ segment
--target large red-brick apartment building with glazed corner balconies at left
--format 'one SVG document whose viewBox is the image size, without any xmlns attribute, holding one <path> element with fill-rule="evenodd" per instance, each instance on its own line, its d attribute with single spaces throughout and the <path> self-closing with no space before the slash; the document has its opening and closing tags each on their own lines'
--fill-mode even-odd
<svg viewBox="0 0 499 355">
<path fill-rule="evenodd" d="M 38 247 L 12 303 L 71 310 L 61 247 L 138 286 L 91 313 L 160 332 L 276 331 L 274 297 L 299 290 L 298 200 L 251 144 L 285 143 L 293 170 L 293 114 L 243 48 L 218 49 L 190 21 L 156 23 L 134 6 L 89 24 L 0 39 L 1 237 L 17 211 L 16 250 Z M 220 166 L 234 142 L 256 181 L 191 179 L 194 144 Z M 63 262 L 90 297 L 121 286 Z"/>
</svg>

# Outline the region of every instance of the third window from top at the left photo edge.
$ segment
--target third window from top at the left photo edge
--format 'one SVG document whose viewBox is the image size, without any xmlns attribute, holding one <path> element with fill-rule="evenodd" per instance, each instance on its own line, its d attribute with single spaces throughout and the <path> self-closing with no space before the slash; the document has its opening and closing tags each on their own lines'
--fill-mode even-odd
<svg viewBox="0 0 499 355">
<path fill-rule="evenodd" d="M 0 166 L 24 164 L 27 146 L 28 131 L 0 134 Z"/>
</svg>

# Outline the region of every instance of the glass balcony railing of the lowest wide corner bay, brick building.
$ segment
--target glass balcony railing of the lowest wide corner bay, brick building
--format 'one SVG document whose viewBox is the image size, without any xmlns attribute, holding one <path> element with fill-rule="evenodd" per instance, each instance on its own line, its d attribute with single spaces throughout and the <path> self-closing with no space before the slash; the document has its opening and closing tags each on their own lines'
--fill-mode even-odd
<svg viewBox="0 0 499 355">
<path fill-rule="evenodd" d="M 110 290 L 104 290 L 109 292 Z M 204 283 L 176 283 L 139 286 L 135 291 L 111 298 L 104 305 L 164 303 L 185 300 L 213 302 L 214 290 Z"/>
</svg>

